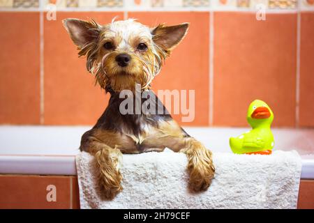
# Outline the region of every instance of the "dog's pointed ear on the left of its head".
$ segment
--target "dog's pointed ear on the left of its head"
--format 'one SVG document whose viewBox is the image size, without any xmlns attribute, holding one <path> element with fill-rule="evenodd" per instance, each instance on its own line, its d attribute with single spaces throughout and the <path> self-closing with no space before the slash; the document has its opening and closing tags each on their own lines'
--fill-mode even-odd
<svg viewBox="0 0 314 223">
<path fill-rule="evenodd" d="M 84 21 L 77 19 L 62 20 L 63 26 L 68 31 L 73 43 L 80 49 L 87 43 L 94 41 L 98 38 L 100 32 L 100 25 L 94 20 Z"/>
</svg>

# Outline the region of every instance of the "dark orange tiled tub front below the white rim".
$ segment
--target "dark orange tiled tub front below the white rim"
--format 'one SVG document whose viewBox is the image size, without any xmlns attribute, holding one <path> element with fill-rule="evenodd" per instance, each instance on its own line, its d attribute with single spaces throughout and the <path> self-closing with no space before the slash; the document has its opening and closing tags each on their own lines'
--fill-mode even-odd
<svg viewBox="0 0 314 223">
<path fill-rule="evenodd" d="M 48 185 L 57 189 L 55 201 L 47 201 Z M 80 208 L 77 177 L 0 175 L 0 208 Z M 297 208 L 314 208 L 314 180 L 301 179 Z"/>
</svg>

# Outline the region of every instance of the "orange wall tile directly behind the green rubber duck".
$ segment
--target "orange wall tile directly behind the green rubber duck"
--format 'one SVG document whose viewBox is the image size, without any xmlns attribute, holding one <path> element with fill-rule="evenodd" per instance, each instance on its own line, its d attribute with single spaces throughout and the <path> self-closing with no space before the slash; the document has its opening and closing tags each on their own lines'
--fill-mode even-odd
<svg viewBox="0 0 314 223">
<path fill-rule="evenodd" d="M 274 125 L 294 126 L 297 14 L 257 21 L 254 13 L 215 13 L 214 26 L 214 125 L 246 125 L 257 98 L 273 110 Z"/>
</svg>

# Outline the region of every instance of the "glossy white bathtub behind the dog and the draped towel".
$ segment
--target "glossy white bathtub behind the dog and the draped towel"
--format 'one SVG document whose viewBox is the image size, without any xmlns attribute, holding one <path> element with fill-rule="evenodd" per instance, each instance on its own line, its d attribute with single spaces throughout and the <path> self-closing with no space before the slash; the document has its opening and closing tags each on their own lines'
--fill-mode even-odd
<svg viewBox="0 0 314 223">
<path fill-rule="evenodd" d="M 10 134 L 15 134 L 16 132 L 20 132 L 15 135 L 15 141 L 14 143 L 20 143 L 20 145 L 27 144 L 27 141 L 19 142 L 19 140 L 24 139 L 25 135 L 30 136 L 28 142 L 33 142 L 34 139 L 39 139 L 38 144 L 35 145 L 36 149 L 33 150 L 33 153 L 27 152 L 27 153 L 20 153 L 19 151 L 14 151 L 13 153 L 10 153 L 10 150 L 3 150 L 3 148 L 6 148 L 6 145 L 9 144 L 1 144 L 0 141 L 0 174 L 36 174 L 36 175 L 66 175 L 66 176 L 75 176 L 76 175 L 76 168 L 75 168 L 75 155 L 79 153 L 78 147 L 80 144 L 80 137 L 82 133 L 84 133 L 86 130 L 89 130 L 91 126 L 50 126 L 50 125 L 0 125 L 0 137 L 1 139 L 6 140 L 6 137 L 10 137 Z M 186 127 L 186 130 L 188 130 L 189 133 L 192 133 L 191 135 L 195 136 L 195 133 L 197 134 L 198 131 L 206 131 L 202 135 L 197 135 L 200 137 L 200 141 L 211 141 L 213 143 L 213 138 L 215 137 L 214 134 L 222 134 L 225 131 L 228 131 L 227 136 L 230 136 L 230 134 L 238 134 L 239 132 L 243 132 L 245 130 L 248 130 L 249 128 L 223 128 L 223 127 Z M 312 132 L 310 136 L 314 136 L 314 129 L 293 129 L 293 128 L 274 128 L 274 131 L 278 132 L 287 132 L 288 137 L 294 137 L 294 134 L 299 134 L 300 132 Z M 57 142 L 56 148 L 57 151 L 47 151 L 43 150 L 45 149 L 45 146 L 50 146 L 50 144 L 54 143 L 56 141 L 54 137 L 51 137 L 50 134 L 52 132 L 55 132 L 55 130 L 58 130 L 57 136 L 63 137 L 61 141 Z M 8 132 L 7 132 L 8 131 Z M 34 132 L 32 132 L 34 131 Z M 38 137 L 38 134 L 41 134 L 41 132 L 46 132 L 41 139 L 41 137 Z M 69 134 L 68 134 L 69 133 Z M 66 134 L 66 136 L 64 136 Z M 286 134 L 286 133 L 285 133 Z M 41 136 L 41 135 L 40 135 Z M 284 137 L 287 137 L 284 135 Z M 33 138 L 32 138 L 33 137 Z M 225 137 L 225 136 L 224 136 Z M 308 136 L 307 136 L 308 137 Z M 210 139 L 211 138 L 211 139 Z M 310 137 L 311 138 L 311 137 Z M 314 138 L 314 137 L 313 137 Z M 41 140 L 41 141 L 40 141 Z M 313 139 L 309 139 L 310 141 Z M 203 143 L 206 145 L 206 142 Z M 228 144 L 226 144 L 226 140 L 224 139 L 224 144 L 213 144 L 212 148 L 215 148 L 217 146 L 217 151 L 213 150 L 213 152 L 226 152 L 230 151 L 230 149 L 227 149 Z M 8 143 L 10 143 L 9 140 L 7 140 Z M 43 143 L 44 142 L 44 143 Z M 64 143 L 68 143 L 63 145 Z M 216 142 L 215 142 L 216 143 Z M 219 142 L 220 143 L 220 142 Z M 4 146 L 3 146 L 4 145 Z M 215 145 L 215 146 L 214 146 Z M 311 146 L 312 143 L 310 143 Z M 10 146 L 10 145 L 9 145 Z M 66 151 L 62 151 L 63 148 L 59 148 L 60 146 L 65 146 Z M 275 141 L 276 146 L 276 141 Z M 218 147 L 223 148 L 223 150 L 220 151 Z M 211 146 L 209 146 L 211 148 Z M 313 147 L 312 147 L 313 148 Z M 50 148 L 51 149 L 51 148 Z M 280 148 L 278 148 L 280 149 Z M 40 152 L 44 151 L 47 154 L 41 154 Z M 60 153 L 60 151 L 62 153 Z M 311 150 L 312 151 L 312 150 Z M 24 151 L 25 152 L 25 151 Z M 51 154 L 50 154 L 51 153 Z M 314 179 L 314 155 L 301 155 L 302 158 L 302 171 L 301 171 L 301 178 L 302 179 Z"/>
</svg>

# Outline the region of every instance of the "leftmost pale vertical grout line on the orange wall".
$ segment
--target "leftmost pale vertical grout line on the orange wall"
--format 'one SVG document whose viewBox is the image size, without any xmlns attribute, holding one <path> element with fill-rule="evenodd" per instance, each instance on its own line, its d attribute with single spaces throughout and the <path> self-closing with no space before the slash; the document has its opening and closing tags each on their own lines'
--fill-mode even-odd
<svg viewBox="0 0 314 223">
<path fill-rule="evenodd" d="M 44 91 L 44 15 L 40 15 L 40 125 L 45 122 L 45 91 Z"/>
</svg>

